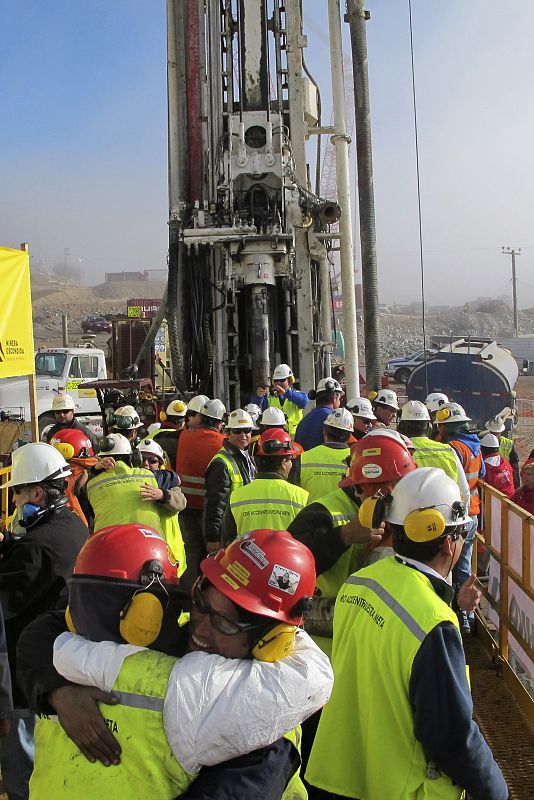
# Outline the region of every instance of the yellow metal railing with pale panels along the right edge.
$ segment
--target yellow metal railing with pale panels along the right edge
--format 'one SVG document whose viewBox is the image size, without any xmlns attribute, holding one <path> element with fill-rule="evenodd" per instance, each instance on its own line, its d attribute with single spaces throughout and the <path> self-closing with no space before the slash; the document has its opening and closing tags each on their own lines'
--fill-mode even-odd
<svg viewBox="0 0 534 800">
<path fill-rule="evenodd" d="M 479 630 L 534 725 L 534 517 L 483 481 L 479 489 L 479 583 L 487 601 Z"/>
</svg>

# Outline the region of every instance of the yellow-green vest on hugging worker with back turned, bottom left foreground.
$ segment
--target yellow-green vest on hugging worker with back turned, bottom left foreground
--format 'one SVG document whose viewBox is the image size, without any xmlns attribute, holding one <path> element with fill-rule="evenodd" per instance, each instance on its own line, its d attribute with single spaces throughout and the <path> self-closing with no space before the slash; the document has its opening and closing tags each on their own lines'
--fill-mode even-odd
<svg viewBox="0 0 534 800">
<path fill-rule="evenodd" d="M 91 764 L 54 717 L 41 717 L 35 729 L 32 800 L 80 797 L 102 800 L 170 798 L 183 794 L 195 776 L 180 766 L 163 727 L 163 703 L 176 659 L 142 650 L 123 662 L 113 692 L 120 702 L 101 705 L 106 724 L 122 748 L 120 767 Z M 53 769 L 51 769 L 53 765 Z"/>
</svg>

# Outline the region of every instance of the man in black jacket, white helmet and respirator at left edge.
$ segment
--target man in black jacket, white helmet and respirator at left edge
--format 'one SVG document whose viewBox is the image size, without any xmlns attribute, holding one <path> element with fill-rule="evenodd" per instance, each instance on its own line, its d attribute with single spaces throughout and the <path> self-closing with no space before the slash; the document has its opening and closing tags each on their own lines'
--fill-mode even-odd
<svg viewBox="0 0 534 800">
<path fill-rule="evenodd" d="M 35 725 L 15 678 L 17 642 L 39 614 L 65 607 L 66 582 L 89 533 L 67 508 L 65 478 L 69 474 L 61 453 L 44 442 L 24 445 L 13 453 L 8 486 L 13 488 L 17 522 L 13 531 L 0 533 L 0 602 L 15 707 L 11 730 L 0 744 L 0 765 L 10 800 L 28 797 Z"/>
</svg>

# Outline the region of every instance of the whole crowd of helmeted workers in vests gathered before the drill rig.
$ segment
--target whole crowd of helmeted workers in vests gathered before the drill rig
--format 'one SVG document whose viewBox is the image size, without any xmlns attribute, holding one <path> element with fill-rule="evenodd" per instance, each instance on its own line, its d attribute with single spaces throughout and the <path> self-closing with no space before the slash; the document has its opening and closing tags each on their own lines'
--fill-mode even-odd
<svg viewBox="0 0 534 800">
<path fill-rule="evenodd" d="M 148 431 L 123 406 L 100 441 L 60 394 L 13 453 L 10 800 L 508 797 L 462 636 L 478 480 L 532 511 L 534 459 L 440 393 L 294 381 L 230 413 L 174 399 Z"/>
</svg>

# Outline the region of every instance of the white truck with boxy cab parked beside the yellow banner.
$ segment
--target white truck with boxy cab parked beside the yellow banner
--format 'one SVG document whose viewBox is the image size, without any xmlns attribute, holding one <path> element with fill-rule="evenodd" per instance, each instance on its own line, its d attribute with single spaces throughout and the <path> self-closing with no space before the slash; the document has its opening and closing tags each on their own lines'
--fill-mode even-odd
<svg viewBox="0 0 534 800">
<path fill-rule="evenodd" d="M 39 431 L 54 422 L 52 400 L 58 392 L 68 392 L 76 403 L 75 414 L 97 433 L 102 417 L 94 389 L 78 389 L 81 383 L 107 378 L 104 351 L 93 347 L 48 347 L 35 353 L 37 414 Z M 27 378 L 0 380 L 0 411 L 10 416 L 30 419 Z"/>
</svg>

